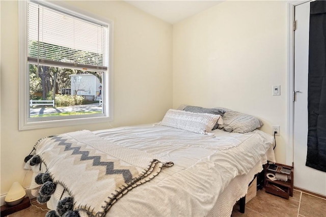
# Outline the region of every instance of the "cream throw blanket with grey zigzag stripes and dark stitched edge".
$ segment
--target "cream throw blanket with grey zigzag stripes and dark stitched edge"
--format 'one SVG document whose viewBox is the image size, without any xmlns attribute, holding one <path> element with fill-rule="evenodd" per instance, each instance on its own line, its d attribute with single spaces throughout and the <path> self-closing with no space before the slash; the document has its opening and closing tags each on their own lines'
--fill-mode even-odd
<svg viewBox="0 0 326 217">
<path fill-rule="evenodd" d="M 173 165 L 144 151 L 115 145 L 86 130 L 39 140 L 36 156 L 41 165 L 34 165 L 33 170 L 45 167 L 54 183 L 51 194 L 62 197 L 68 193 L 73 199 L 73 210 L 89 216 L 104 216 L 129 190 L 154 178 L 162 167 Z M 46 195 L 42 188 L 39 197 Z M 56 213 L 62 214 L 60 210 Z"/>
</svg>

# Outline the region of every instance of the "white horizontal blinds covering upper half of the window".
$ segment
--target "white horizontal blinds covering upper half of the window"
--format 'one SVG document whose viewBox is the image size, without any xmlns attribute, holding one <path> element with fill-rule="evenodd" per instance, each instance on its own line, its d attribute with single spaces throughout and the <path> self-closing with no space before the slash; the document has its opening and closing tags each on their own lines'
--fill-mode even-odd
<svg viewBox="0 0 326 217">
<path fill-rule="evenodd" d="M 28 3 L 28 61 L 88 70 L 106 70 L 107 25 Z"/>
</svg>

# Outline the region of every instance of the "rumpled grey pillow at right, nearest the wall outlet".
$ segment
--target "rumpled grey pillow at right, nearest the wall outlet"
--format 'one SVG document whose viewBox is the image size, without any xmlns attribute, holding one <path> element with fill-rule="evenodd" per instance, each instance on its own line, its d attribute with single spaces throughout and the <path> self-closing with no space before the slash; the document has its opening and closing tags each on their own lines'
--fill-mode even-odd
<svg viewBox="0 0 326 217">
<path fill-rule="evenodd" d="M 219 125 L 218 129 L 233 133 L 248 133 L 262 125 L 263 122 L 257 117 L 236 111 L 227 111 L 223 115 L 223 125 Z"/>
</svg>

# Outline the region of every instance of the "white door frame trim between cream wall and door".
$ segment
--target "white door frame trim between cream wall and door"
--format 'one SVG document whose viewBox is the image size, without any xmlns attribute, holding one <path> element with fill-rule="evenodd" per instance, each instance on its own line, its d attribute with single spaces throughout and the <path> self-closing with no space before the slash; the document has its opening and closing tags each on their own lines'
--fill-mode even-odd
<svg viewBox="0 0 326 217">
<path fill-rule="evenodd" d="M 287 3 L 287 165 L 293 165 L 294 159 L 294 12 L 295 6 L 307 2 L 311 2 L 311 0 L 289 1 Z"/>
</svg>

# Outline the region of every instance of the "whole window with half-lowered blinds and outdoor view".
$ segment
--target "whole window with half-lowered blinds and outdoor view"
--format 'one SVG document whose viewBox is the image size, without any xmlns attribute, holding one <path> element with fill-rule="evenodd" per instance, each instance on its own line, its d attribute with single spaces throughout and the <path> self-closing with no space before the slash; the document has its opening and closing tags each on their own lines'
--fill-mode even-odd
<svg viewBox="0 0 326 217">
<path fill-rule="evenodd" d="M 112 119 L 112 22 L 57 4 L 19 1 L 19 130 Z"/>
</svg>

